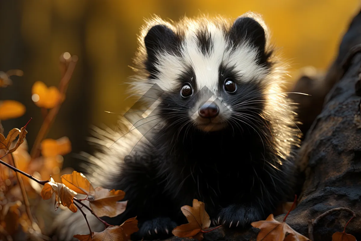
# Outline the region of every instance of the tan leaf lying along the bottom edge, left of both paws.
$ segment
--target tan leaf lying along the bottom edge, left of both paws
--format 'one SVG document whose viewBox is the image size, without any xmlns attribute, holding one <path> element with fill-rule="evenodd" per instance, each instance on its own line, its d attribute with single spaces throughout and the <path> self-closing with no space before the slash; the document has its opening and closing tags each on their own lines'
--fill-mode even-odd
<svg viewBox="0 0 361 241">
<path fill-rule="evenodd" d="M 112 226 L 106 228 L 103 232 L 92 232 L 92 238 L 90 234 L 74 235 L 80 241 L 123 241 L 123 229 L 120 226 Z"/>
</svg>

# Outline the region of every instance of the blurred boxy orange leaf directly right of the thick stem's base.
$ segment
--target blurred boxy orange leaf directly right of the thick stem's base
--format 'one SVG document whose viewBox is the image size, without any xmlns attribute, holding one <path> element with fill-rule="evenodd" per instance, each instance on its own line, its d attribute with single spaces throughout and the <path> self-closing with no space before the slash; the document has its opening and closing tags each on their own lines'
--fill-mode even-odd
<svg viewBox="0 0 361 241">
<path fill-rule="evenodd" d="M 45 139 L 42 141 L 41 146 L 44 157 L 64 156 L 71 151 L 71 143 L 68 137 L 62 137 L 57 140 Z"/>
</svg>

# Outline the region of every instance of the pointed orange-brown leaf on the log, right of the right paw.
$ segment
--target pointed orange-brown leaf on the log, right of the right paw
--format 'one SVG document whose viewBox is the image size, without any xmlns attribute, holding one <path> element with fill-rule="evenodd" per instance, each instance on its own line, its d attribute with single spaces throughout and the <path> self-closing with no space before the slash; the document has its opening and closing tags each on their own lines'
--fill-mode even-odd
<svg viewBox="0 0 361 241">
<path fill-rule="evenodd" d="M 307 237 L 294 231 L 287 223 L 279 222 L 270 214 L 266 220 L 253 222 L 251 225 L 261 229 L 257 241 L 307 241 Z M 286 237 L 286 234 L 288 236 Z M 285 238 L 286 237 L 286 238 Z"/>
</svg>

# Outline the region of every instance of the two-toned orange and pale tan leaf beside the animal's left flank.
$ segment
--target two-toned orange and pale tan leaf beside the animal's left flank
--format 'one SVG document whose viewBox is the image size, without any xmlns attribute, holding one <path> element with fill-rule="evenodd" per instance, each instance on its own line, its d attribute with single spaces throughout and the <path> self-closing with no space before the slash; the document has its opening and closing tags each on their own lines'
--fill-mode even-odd
<svg viewBox="0 0 361 241">
<path fill-rule="evenodd" d="M 122 190 L 109 190 L 99 186 L 89 194 L 92 195 L 92 197 L 88 197 L 90 207 L 100 217 L 108 216 L 113 218 L 118 216 L 125 211 L 127 206 L 127 201 L 118 202 L 125 196 L 125 192 Z"/>
</svg>

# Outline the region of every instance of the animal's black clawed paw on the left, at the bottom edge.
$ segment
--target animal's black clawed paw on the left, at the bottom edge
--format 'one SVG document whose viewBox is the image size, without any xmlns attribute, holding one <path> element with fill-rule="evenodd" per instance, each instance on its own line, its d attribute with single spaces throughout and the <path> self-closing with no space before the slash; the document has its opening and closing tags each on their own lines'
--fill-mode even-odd
<svg viewBox="0 0 361 241">
<path fill-rule="evenodd" d="M 177 224 L 170 218 L 155 218 L 145 221 L 139 229 L 139 236 L 144 240 L 165 239 L 172 236 Z"/>
</svg>

